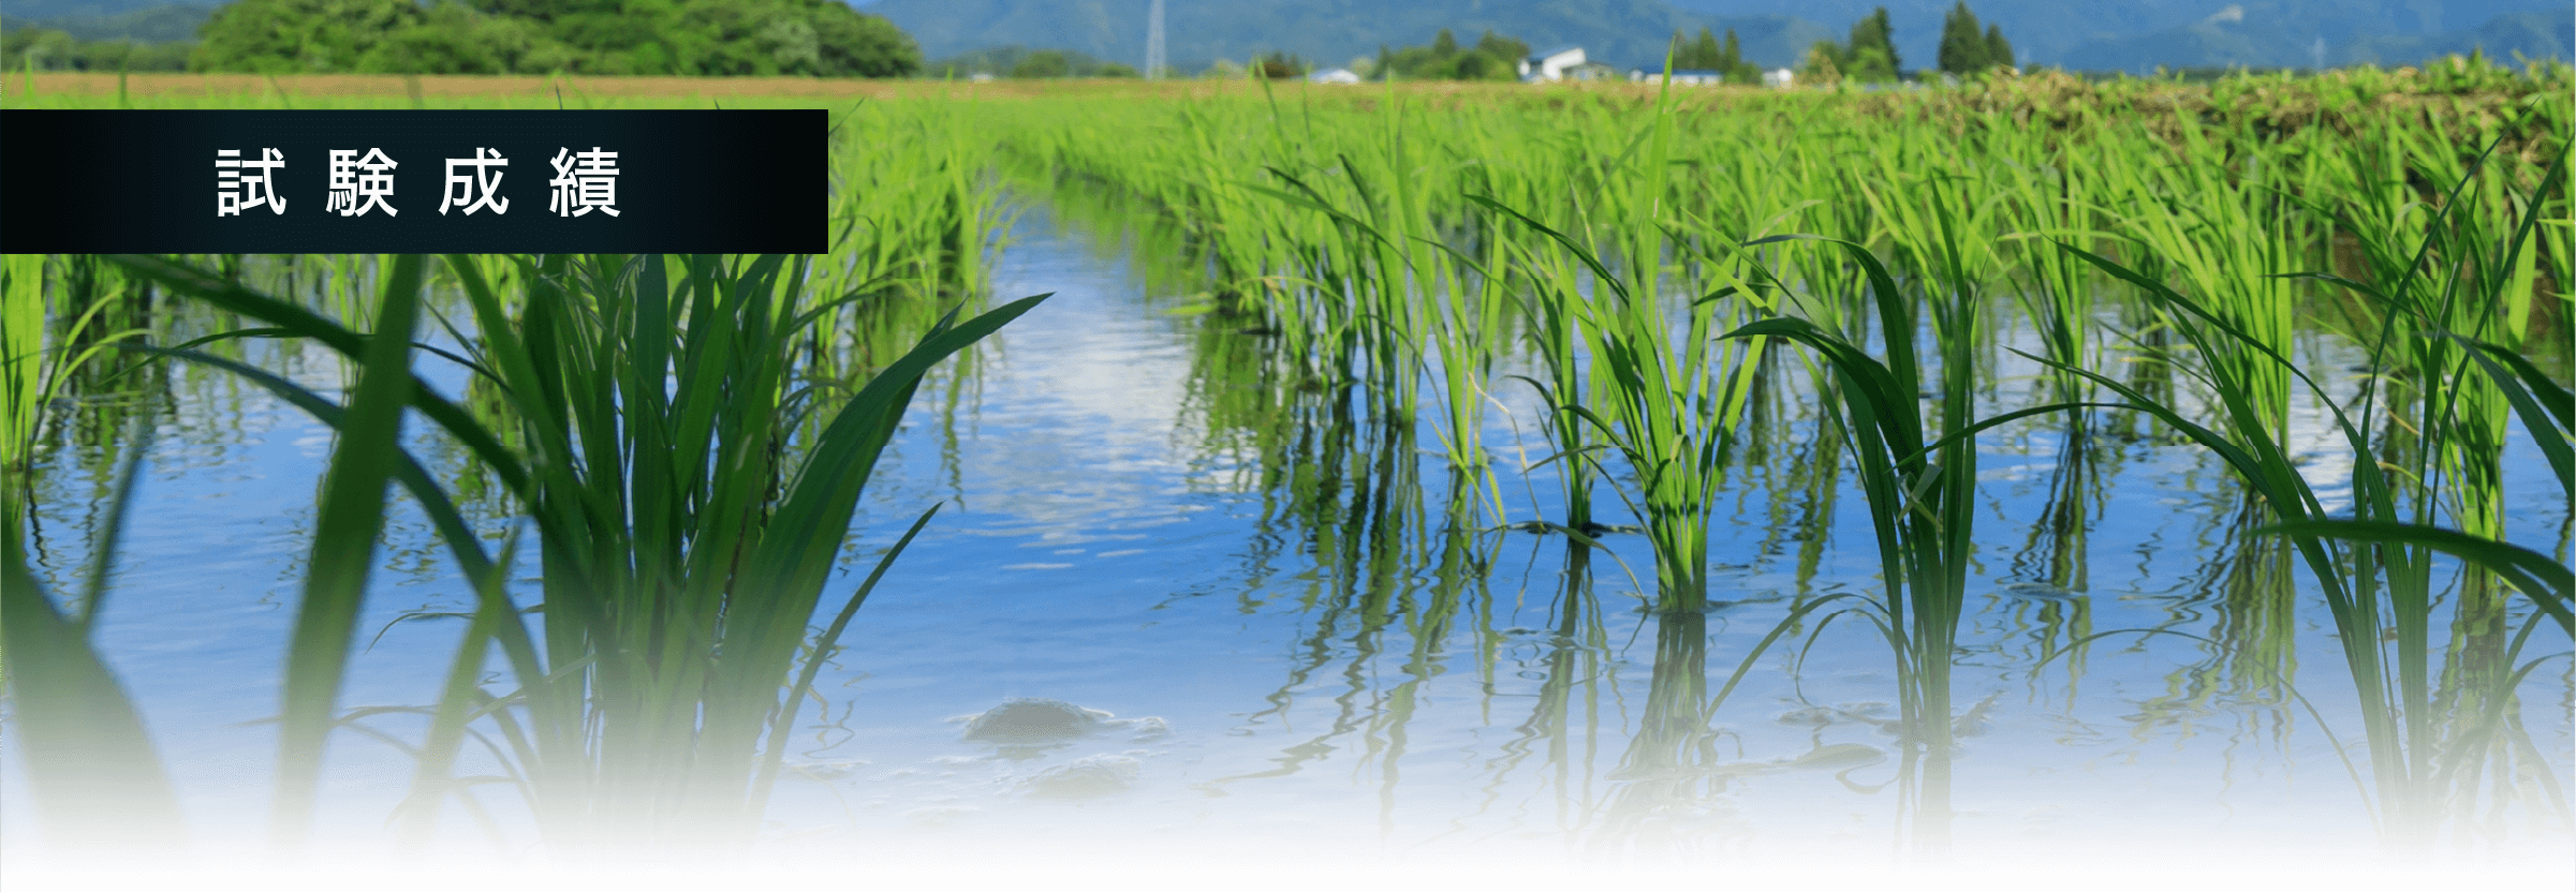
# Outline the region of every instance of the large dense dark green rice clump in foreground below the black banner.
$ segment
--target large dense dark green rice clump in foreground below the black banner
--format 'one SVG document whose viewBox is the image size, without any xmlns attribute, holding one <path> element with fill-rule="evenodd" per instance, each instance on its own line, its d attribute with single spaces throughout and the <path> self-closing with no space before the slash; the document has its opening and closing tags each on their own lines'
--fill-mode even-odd
<svg viewBox="0 0 2576 893">
<path fill-rule="evenodd" d="M 796 311 L 799 275 L 783 257 L 665 270 L 662 257 L 523 268 L 538 286 L 513 319 L 464 265 L 479 363 L 536 453 L 526 499 L 546 546 L 546 664 L 520 667 L 497 703 L 515 700 L 528 726 L 513 762 L 541 824 L 574 847 L 621 831 L 737 839 L 757 821 L 804 695 L 781 687 L 876 456 L 933 363 L 1041 301 L 938 324 L 793 463 L 783 430 L 819 396 L 793 391 L 768 345 L 814 314 Z M 809 649 L 804 685 L 876 576 Z M 495 703 L 471 685 L 448 697 Z"/>
</svg>

